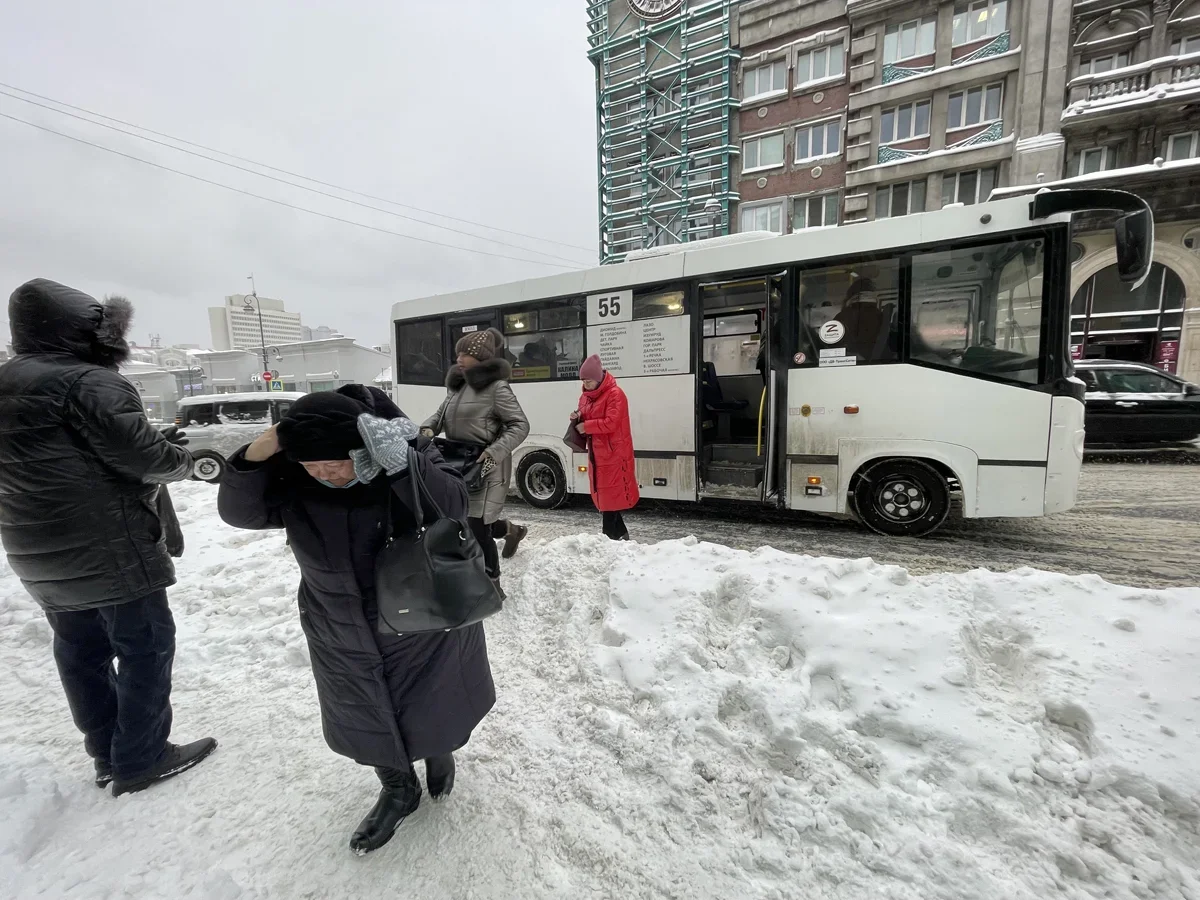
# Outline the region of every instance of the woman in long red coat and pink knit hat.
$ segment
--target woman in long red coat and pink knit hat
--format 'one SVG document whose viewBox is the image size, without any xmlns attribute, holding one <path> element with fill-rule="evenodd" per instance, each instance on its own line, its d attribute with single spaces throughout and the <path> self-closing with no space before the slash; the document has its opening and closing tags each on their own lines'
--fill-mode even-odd
<svg viewBox="0 0 1200 900">
<path fill-rule="evenodd" d="M 629 428 L 629 401 L 617 379 L 604 371 L 600 358 L 588 356 L 580 366 L 583 395 L 571 413 L 575 430 L 588 438 L 592 502 L 604 515 L 604 533 L 628 541 L 629 528 L 622 512 L 637 505 L 637 469 L 634 437 Z"/>
</svg>

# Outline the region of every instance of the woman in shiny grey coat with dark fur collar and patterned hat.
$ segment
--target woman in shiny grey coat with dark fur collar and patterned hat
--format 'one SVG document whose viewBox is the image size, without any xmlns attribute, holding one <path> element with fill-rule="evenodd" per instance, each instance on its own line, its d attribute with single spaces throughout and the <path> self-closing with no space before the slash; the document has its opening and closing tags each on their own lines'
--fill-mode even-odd
<svg viewBox="0 0 1200 900">
<path fill-rule="evenodd" d="M 496 541 L 504 539 L 508 559 L 528 533 L 500 516 L 512 480 L 512 451 L 529 437 L 529 420 L 509 386 L 512 366 L 504 359 L 504 336 L 499 331 L 490 328 L 466 335 L 455 353 L 458 362 L 446 373 L 449 394 L 421 431 L 427 437 L 444 433 L 450 440 L 482 449 L 484 485 L 470 494 L 467 521 L 484 548 L 487 572 L 499 588 Z"/>
</svg>

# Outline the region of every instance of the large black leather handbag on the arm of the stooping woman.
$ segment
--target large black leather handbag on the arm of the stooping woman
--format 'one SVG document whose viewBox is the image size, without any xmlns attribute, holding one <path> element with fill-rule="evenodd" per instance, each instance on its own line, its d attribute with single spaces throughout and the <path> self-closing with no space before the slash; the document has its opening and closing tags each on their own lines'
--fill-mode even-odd
<svg viewBox="0 0 1200 900">
<path fill-rule="evenodd" d="M 450 631 L 494 616 L 504 602 L 487 576 L 484 551 L 470 528 L 442 512 L 415 461 L 408 467 L 408 480 L 416 528 L 412 534 L 396 534 L 389 492 L 388 542 L 376 558 L 380 632 Z M 428 522 L 426 505 L 437 516 Z"/>
</svg>

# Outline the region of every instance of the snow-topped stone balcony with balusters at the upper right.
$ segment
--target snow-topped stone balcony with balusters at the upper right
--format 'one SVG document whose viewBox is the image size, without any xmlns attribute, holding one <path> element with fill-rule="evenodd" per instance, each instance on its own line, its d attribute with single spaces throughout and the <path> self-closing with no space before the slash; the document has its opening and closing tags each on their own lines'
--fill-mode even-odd
<svg viewBox="0 0 1200 900">
<path fill-rule="evenodd" d="M 1063 124 L 1094 121 L 1158 103 L 1200 100 L 1200 53 L 1162 56 L 1111 72 L 1086 74 L 1067 85 Z"/>
</svg>

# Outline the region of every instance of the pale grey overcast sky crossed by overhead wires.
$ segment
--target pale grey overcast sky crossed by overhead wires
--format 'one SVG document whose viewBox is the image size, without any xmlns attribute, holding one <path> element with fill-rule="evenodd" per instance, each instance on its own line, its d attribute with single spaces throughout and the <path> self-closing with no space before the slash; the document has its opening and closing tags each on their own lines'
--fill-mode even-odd
<svg viewBox="0 0 1200 900">
<path fill-rule="evenodd" d="M 0 82 L 356 191 L 590 247 L 486 232 L 595 263 L 582 0 L 12 2 L 0 12 Z M 530 256 L 6 96 L 0 113 L 343 218 Z M 0 172 L 0 296 L 34 277 L 122 293 L 140 344 L 157 332 L 206 346 L 206 307 L 246 290 L 250 272 L 259 294 L 284 300 L 305 324 L 376 343 L 396 300 L 563 271 L 330 222 L 7 119 Z"/>
</svg>

